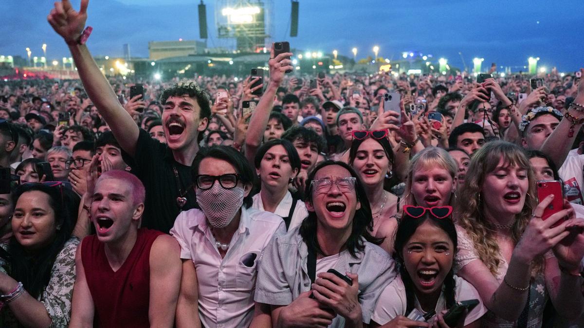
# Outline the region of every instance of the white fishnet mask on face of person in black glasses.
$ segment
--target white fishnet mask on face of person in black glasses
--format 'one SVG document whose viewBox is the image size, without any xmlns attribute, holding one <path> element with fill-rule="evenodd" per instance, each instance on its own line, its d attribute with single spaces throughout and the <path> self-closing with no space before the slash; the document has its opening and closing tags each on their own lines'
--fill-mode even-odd
<svg viewBox="0 0 584 328">
<path fill-rule="evenodd" d="M 241 205 L 244 204 L 244 189 L 225 189 L 219 183 L 210 189 L 197 188 L 197 203 L 214 228 L 225 228 L 231 223 Z"/>
</svg>

